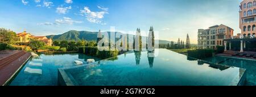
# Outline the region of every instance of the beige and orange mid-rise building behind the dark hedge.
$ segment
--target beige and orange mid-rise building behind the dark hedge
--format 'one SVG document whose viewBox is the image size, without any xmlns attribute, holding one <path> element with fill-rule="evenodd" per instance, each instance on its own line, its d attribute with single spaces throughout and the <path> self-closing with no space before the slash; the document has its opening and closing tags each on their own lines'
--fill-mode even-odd
<svg viewBox="0 0 256 97">
<path fill-rule="evenodd" d="M 216 49 L 216 46 L 224 46 L 224 39 L 232 38 L 234 29 L 226 25 L 214 25 L 209 29 L 198 30 L 199 49 Z"/>
</svg>

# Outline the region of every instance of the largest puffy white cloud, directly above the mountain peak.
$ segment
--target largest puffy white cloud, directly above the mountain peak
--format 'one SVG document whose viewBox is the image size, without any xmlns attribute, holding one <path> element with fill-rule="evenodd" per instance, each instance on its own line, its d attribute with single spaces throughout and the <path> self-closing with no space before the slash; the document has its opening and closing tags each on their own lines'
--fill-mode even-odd
<svg viewBox="0 0 256 97">
<path fill-rule="evenodd" d="M 108 11 L 104 10 L 100 12 L 93 12 L 93 11 L 90 11 L 89 7 L 84 7 L 83 10 L 80 10 L 80 13 L 82 14 L 82 16 L 85 15 L 86 20 L 88 20 L 91 23 L 105 24 L 105 23 L 102 23 L 101 19 L 104 18 L 105 14 L 108 14 Z"/>
</svg>

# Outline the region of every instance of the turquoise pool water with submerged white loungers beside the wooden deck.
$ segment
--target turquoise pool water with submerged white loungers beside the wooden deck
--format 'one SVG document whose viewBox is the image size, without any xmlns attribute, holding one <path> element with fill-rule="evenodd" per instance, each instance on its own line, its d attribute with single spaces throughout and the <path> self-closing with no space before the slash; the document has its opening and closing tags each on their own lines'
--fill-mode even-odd
<svg viewBox="0 0 256 97">
<path fill-rule="evenodd" d="M 18 75 L 10 83 L 11 86 L 56 86 L 57 69 L 76 66 L 74 60 L 85 63 L 87 59 L 97 59 L 84 54 L 57 54 L 40 55 L 39 58 L 31 58 L 20 70 Z M 42 70 L 42 74 L 24 72 L 26 68 Z"/>
</svg>

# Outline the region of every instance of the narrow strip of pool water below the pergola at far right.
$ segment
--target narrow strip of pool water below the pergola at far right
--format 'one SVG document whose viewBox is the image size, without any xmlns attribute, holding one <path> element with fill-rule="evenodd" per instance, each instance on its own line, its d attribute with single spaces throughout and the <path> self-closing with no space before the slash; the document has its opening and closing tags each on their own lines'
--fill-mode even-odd
<svg viewBox="0 0 256 97">
<path fill-rule="evenodd" d="M 246 69 L 246 85 L 256 85 L 256 60 L 246 60 L 230 58 L 225 56 L 214 56 L 213 58 L 204 59 L 206 61 L 212 61 L 213 63 L 219 63 L 224 65 L 230 65 L 233 67 L 240 67 Z"/>
</svg>

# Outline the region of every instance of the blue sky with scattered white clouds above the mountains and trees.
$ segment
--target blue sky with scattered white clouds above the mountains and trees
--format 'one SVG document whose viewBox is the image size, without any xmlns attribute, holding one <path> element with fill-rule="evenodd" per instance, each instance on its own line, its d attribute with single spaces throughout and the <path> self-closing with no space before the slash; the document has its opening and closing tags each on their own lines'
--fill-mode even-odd
<svg viewBox="0 0 256 97">
<path fill-rule="evenodd" d="M 69 30 L 133 31 L 153 25 L 159 38 L 197 43 L 197 29 L 224 24 L 240 33 L 242 0 L 1 0 L 0 27 L 36 36 Z"/>
</svg>

